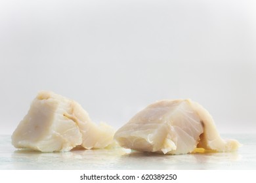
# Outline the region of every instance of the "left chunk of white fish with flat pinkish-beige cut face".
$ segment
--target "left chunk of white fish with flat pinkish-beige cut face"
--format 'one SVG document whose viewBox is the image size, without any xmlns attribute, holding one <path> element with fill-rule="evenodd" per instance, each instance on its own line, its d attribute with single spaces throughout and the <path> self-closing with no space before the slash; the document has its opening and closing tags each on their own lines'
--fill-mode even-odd
<svg viewBox="0 0 256 183">
<path fill-rule="evenodd" d="M 41 152 L 68 151 L 79 145 L 105 148 L 112 144 L 113 136 L 112 127 L 91 122 L 77 102 L 43 91 L 12 134 L 12 144 Z"/>
</svg>

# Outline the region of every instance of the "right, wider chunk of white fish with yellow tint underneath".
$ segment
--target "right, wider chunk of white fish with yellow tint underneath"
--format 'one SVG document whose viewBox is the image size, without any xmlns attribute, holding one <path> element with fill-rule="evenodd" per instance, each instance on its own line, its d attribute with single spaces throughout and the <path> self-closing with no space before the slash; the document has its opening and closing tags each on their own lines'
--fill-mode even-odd
<svg viewBox="0 0 256 183">
<path fill-rule="evenodd" d="M 209 112 L 189 99 L 149 105 L 118 129 L 114 139 L 124 148 L 163 154 L 187 154 L 198 148 L 230 152 L 240 146 L 236 140 L 221 139 Z"/>
</svg>

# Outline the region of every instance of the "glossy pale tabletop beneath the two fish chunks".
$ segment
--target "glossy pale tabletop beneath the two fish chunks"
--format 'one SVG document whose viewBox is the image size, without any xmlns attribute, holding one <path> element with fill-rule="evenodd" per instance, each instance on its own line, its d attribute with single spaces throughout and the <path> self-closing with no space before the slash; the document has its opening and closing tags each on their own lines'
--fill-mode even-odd
<svg viewBox="0 0 256 183">
<path fill-rule="evenodd" d="M 237 152 L 183 155 L 123 148 L 42 153 L 17 150 L 11 144 L 11 135 L 0 135 L 0 169 L 256 169 L 256 134 L 221 136 L 237 139 L 243 146 Z"/>
</svg>

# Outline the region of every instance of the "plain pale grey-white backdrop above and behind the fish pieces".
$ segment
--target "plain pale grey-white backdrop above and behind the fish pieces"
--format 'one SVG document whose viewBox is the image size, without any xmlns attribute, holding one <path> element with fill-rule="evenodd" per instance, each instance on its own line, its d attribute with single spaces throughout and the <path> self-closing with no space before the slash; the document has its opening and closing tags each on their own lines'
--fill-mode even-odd
<svg viewBox="0 0 256 183">
<path fill-rule="evenodd" d="M 221 133 L 255 133 L 256 2 L 0 1 L 0 134 L 39 90 L 118 128 L 190 98 Z"/>
</svg>

